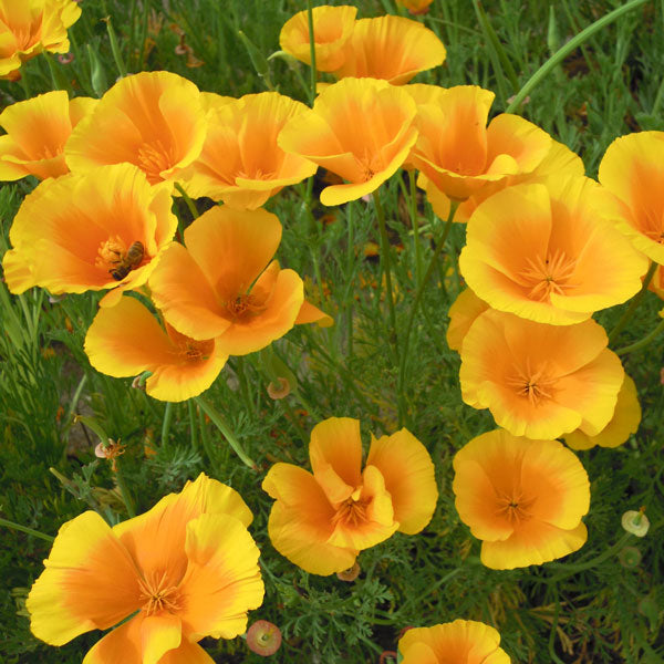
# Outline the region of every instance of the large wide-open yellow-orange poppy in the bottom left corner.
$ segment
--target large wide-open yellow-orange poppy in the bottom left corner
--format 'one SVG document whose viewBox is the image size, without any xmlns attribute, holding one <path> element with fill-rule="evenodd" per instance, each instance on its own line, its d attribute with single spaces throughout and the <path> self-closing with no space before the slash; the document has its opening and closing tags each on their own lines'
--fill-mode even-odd
<svg viewBox="0 0 664 664">
<path fill-rule="evenodd" d="M 242 634 L 262 603 L 251 519 L 239 494 L 203 474 L 113 528 L 80 515 L 60 529 L 28 595 L 32 633 L 62 645 L 136 613 L 84 664 L 211 664 L 197 642 Z"/>
</svg>

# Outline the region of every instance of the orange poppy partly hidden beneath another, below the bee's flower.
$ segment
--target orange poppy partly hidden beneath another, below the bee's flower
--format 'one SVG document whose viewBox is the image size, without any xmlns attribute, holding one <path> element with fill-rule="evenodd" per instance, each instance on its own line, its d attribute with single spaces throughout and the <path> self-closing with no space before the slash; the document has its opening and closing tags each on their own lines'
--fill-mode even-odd
<svg viewBox="0 0 664 664">
<path fill-rule="evenodd" d="M 214 339 L 196 341 L 168 323 L 164 329 L 146 307 L 129 297 L 97 311 L 85 336 L 85 353 L 97 371 L 116 378 L 152 372 L 145 391 L 168 402 L 205 392 L 228 360 Z"/>
</svg>

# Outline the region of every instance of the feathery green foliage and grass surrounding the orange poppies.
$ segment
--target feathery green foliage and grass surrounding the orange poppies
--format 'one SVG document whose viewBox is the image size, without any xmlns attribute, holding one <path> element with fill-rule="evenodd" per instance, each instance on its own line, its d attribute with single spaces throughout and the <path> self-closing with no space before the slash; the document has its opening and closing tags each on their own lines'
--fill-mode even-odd
<svg viewBox="0 0 664 664">
<path fill-rule="evenodd" d="M 403 13 L 392 0 L 355 4 L 361 17 L 386 9 Z M 620 4 L 621 0 L 486 0 L 479 21 L 479 3 L 435 0 L 423 20 L 444 40 L 447 62 L 417 80 L 496 90 L 492 112 L 499 113 L 552 51 Z M 279 50 L 281 25 L 303 7 L 295 0 L 86 0 L 81 20 L 70 30 L 74 60 L 28 62 L 22 83 L 0 83 L 0 100 L 10 104 L 54 85 L 66 86 L 71 94 L 98 96 L 117 77 L 121 62 L 128 72 L 177 72 L 201 90 L 225 95 L 273 85 L 307 101 L 305 69 L 269 59 Z M 593 35 L 519 108 L 577 151 L 590 175 L 614 137 L 664 129 L 663 10 L 662 3 L 646 2 Z M 111 17 L 114 32 L 103 22 L 105 17 Z M 178 44 L 190 51 L 177 54 Z M 0 189 L 2 250 L 9 246 L 9 227 L 20 201 L 35 185 L 29 179 Z M 662 342 L 625 360 L 644 412 L 637 435 L 615 450 L 579 453 L 592 483 L 588 543 L 542 567 L 488 570 L 479 563 L 479 543 L 458 519 L 450 488 L 455 452 L 494 426 L 488 413 L 463 404 L 458 355 L 445 341 L 445 312 L 461 288 L 456 259 L 464 228 L 453 228 L 424 292 L 405 382 L 397 391 L 398 367 L 380 288 L 383 274 L 377 259 L 365 256 L 367 243 L 378 242 L 373 208 L 363 200 L 324 208 L 318 203 L 320 187 L 317 180 L 311 214 L 302 203 L 304 186 L 284 190 L 268 207 L 284 226 L 281 263 L 305 276 L 308 299 L 331 313 L 335 325 L 300 326 L 274 344 L 279 361 L 298 378 L 298 390 L 287 398 L 268 397 L 270 371 L 258 355 L 231 359 L 206 394 L 258 463 L 258 474 L 239 463 L 194 404 L 175 404 L 170 425 L 164 427 L 163 403 L 132 388 L 129 380 L 92 370 L 82 349 L 98 297 L 51 301 L 41 290 L 13 297 L 0 284 L 0 516 L 51 535 L 85 509 L 97 509 L 115 522 L 128 517 L 127 501 L 142 512 L 205 471 L 240 491 L 255 512 L 251 532 L 262 552 L 267 594 L 252 619 L 270 620 L 282 630 L 284 643 L 274 662 L 375 662 L 382 651 L 396 650 L 403 627 L 456 618 L 494 624 L 512 662 L 661 662 Z M 407 177 L 393 178 L 381 196 L 394 268 L 396 328 L 403 331 L 443 221 L 418 195 L 419 232 L 414 232 Z M 646 334 L 660 308 L 661 301 L 649 294 L 619 345 Z M 612 310 L 598 318 L 610 328 L 619 317 L 620 311 Z M 76 414 L 94 417 L 126 446 L 118 473 L 111 463 L 95 459 L 98 438 L 74 422 Z M 267 535 L 271 501 L 260 489 L 272 463 L 308 465 L 309 433 L 320 418 L 332 415 L 360 418 L 365 439 L 370 430 L 377 435 L 406 425 L 432 453 L 440 488 L 425 531 L 417 537 L 396 535 L 364 551 L 362 573 L 353 583 L 309 575 L 274 551 Z M 651 531 L 643 540 L 625 540 L 621 515 L 641 506 L 646 507 Z M 0 529 L 0 658 L 7 664 L 80 662 L 100 634 L 55 649 L 29 632 L 23 602 L 41 573 L 48 544 L 7 529 Z M 621 564 L 620 551 L 627 543 L 641 553 L 635 567 Z M 241 640 L 203 644 L 218 662 L 259 661 Z"/>
</svg>

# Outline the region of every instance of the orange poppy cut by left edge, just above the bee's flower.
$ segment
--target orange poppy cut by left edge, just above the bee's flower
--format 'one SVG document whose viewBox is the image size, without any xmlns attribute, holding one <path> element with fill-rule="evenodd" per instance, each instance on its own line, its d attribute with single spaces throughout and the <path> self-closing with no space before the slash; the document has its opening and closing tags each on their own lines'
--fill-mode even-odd
<svg viewBox="0 0 664 664">
<path fill-rule="evenodd" d="M 8 106 L 0 114 L 0 179 L 17 180 L 27 175 L 40 179 L 69 173 L 64 163 L 64 144 L 96 100 L 76 97 L 66 92 L 46 92 Z"/>
</svg>

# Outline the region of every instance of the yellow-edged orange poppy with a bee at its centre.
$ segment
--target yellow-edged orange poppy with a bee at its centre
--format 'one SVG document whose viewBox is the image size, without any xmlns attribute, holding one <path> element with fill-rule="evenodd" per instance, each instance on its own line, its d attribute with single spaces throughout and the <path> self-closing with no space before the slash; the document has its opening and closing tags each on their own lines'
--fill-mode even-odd
<svg viewBox="0 0 664 664">
<path fill-rule="evenodd" d="M 147 281 L 154 259 L 173 239 L 170 184 L 151 186 L 132 164 L 101 166 L 46 179 L 19 208 L 4 255 L 4 279 L 13 293 L 33 286 L 51 293 L 115 289 Z"/>
</svg>

